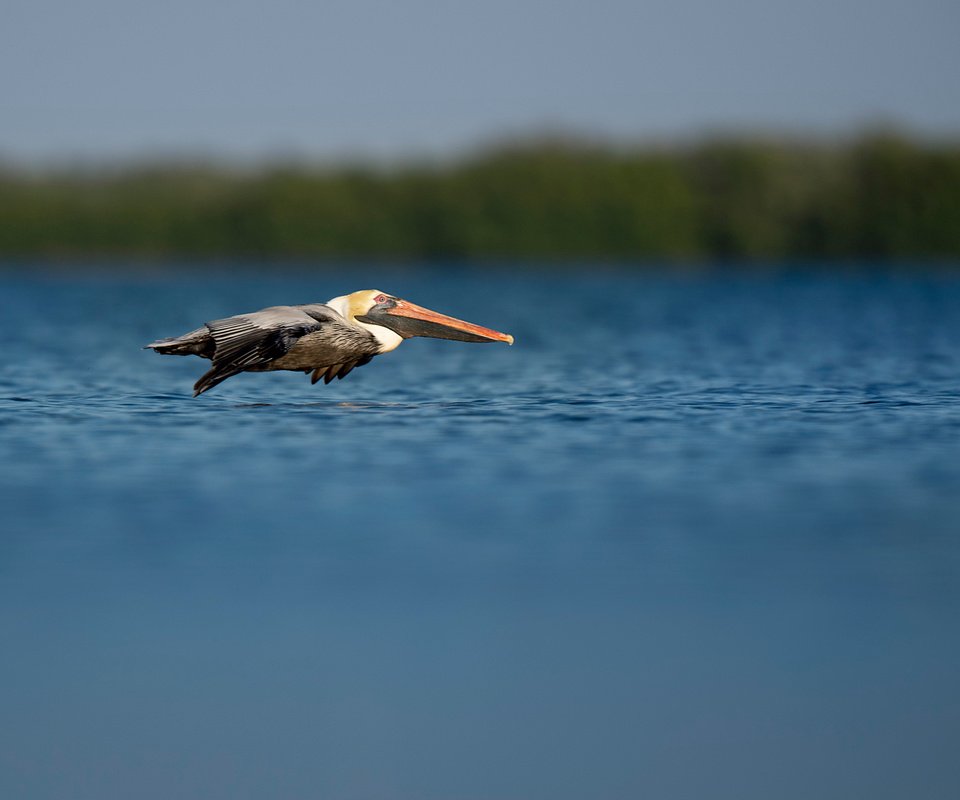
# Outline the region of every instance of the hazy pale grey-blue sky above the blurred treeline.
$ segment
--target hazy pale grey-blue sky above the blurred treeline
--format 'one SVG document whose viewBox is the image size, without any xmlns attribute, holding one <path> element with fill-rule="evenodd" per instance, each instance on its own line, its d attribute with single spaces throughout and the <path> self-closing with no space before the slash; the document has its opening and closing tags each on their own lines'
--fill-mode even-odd
<svg viewBox="0 0 960 800">
<path fill-rule="evenodd" d="M 3 0 L 0 159 L 960 132 L 956 0 Z"/>
</svg>

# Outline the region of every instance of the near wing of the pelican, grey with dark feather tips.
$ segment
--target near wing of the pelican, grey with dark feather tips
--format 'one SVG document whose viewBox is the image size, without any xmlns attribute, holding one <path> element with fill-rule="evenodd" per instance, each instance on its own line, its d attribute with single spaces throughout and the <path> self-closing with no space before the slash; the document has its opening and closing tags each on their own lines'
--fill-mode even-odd
<svg viewBox="0 0 960 800">
<path fill-rule="evenodd" d="M 238 372 L 275 361 L 302 336 L 332 321 L 294 306 L 275 306 L 206 323 L 214 341 L 213 367 L 196 382 L 193 396 Z"/>
</svg>

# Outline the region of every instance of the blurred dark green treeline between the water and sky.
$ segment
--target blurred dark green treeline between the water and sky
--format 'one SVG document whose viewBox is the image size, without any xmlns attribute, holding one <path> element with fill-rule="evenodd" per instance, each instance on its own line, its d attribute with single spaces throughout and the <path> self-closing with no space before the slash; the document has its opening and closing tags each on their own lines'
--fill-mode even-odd
<svg viewBox="0 0 960 800">
<path fill-rule="evenodd" d="M 960 142 L 537 141 L 446 163 L 0 169 L 0 256 L 960 257 Z"/>
</svg>

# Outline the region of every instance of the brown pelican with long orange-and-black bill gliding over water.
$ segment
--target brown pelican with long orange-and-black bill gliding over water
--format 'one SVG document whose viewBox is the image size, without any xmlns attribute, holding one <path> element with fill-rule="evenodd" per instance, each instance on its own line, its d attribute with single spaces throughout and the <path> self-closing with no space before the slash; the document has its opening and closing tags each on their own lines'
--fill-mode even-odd
<svg viewBox="0 0 960 800">
<path fill-rule="evenodd" d="M 378 289 L 365 289 L 327 303 L 272 306 L 213 320 L 144 349 L 210 359 L 213 366 L 193 386 L 196 397 L 241 372 L 294 370 L 312 373 L 311 383 L 321 378 L 330 383 L 374 356 L 396 350 L 413 336 L 513 344 L 508 333 L 438 314 Z"/>
</svg>

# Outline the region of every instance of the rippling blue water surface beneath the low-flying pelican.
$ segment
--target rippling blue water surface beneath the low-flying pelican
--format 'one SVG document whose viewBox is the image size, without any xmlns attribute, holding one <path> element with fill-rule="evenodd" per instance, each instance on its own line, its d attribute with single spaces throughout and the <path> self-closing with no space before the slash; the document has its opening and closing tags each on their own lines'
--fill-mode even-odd
<svg viewBox="0 0 960 800">
<path fill-rule="evenodd" d="M 377 287 L 346 380 L 140 350 Z M 953 798 L 960 278 L 0 278 L 0 796 Z"/>
</svg>

